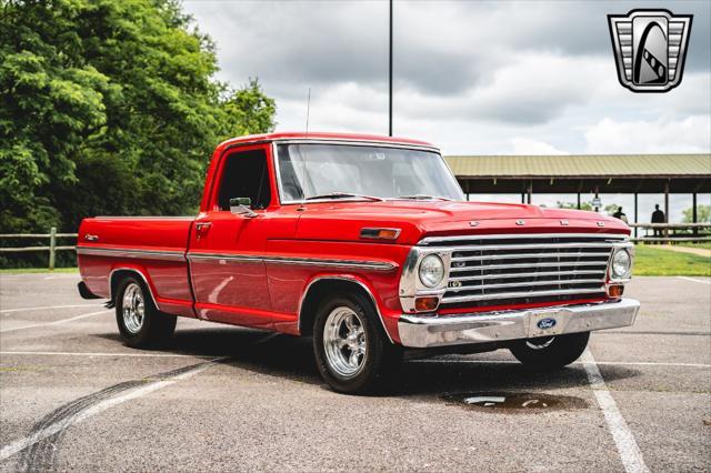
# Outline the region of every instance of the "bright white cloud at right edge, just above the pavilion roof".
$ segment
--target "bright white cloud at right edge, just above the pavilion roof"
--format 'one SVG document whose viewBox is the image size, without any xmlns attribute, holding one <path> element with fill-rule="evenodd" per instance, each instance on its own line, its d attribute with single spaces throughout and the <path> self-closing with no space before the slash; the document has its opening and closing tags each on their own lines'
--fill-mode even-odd
<svg viewBox="0 0 711 473">
<path fill-rule="evenodd" d="M 588 153 L 708 153 L 711 117 L 620 121 L 604 118 L 585 131 Z"/>
</svg>

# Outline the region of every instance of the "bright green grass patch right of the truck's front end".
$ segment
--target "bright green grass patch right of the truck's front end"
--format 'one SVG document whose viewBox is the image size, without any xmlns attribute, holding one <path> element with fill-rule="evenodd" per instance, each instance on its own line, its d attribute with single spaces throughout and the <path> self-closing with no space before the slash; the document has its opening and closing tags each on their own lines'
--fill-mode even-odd
<svg viewBox="0 0 711 473">
<path fill-rule="evenodd" d="M 633 274 L 711 276 L 711 258 L 639 244 Z"/>
</svg>

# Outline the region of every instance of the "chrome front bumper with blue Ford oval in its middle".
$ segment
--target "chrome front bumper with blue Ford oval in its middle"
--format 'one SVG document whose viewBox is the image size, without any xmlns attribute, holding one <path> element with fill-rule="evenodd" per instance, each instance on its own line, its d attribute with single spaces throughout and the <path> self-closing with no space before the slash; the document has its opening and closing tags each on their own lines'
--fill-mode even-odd
<svg viewBox="0 0 711 473">
<path fill-rule="evenodd" d="M 398 329 L 403 346 L 462 345 L 629 326 L 634 323 L 639 309 L 638 301 L 622 299 L 597 304 L 462 315 L 407 314 L 400 318 Z"/>
</svg>

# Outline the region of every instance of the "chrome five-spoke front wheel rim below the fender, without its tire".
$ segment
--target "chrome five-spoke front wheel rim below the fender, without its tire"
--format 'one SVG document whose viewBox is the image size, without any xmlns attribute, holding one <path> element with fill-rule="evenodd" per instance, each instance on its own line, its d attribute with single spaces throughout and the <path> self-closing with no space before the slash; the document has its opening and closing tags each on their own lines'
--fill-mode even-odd
<svg viewBox="0 0 711 473">
<path fill-rule="evenodd" d="M 336 308 L 326 319 L 323 349 L 331 369 L 343 378 L 353 378 L 368 356 L 365 329 L 361 316 L 347 306 Z"/>
</svg>

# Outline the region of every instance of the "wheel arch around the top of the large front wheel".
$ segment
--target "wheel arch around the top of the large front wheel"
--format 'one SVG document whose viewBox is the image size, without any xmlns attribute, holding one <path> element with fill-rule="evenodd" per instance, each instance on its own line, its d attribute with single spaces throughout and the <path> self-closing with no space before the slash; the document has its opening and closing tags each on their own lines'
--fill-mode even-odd
<svg viewBox="0 0 711 473">
<path fill-rule="evenodd" d="M 382 318 L 382 313 L 378 306 L 378 301 L 375 300 L 372 291 L 365 282 L 350 275 L 321 275 L 309 281 L 301 296 L 301 301 L 299 302 L 298 329 L 300 334 L 312 335 L 316 309 L 318 308 L 319 302 L 326 294 L 333 293 L 333 291 L 339 290 L 359 293 L 371 301 L 373 309 L 378 314 L 378 319 L 380 320 L 380 326 L 390 343 L 394 343 L 392 336 L 388 332 L 385 321 Z"/>
</svg>

